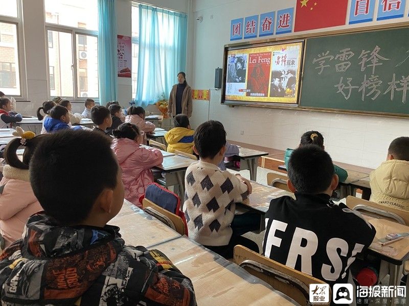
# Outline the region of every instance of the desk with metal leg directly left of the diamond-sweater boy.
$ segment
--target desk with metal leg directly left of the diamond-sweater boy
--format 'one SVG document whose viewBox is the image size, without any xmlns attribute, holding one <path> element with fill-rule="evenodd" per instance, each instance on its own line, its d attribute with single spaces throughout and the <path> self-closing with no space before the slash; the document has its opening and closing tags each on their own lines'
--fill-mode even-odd
<svg viewBox="0 0 409 306">
<path fill-rule="evenodd" d="M 190 158 L 172 155 L 163 159 L 160 166 L 155 166 L 155 169 L 165 172 L 166 186 L 178 185 L 178 195 L 183 198 L 185 195 L 185 172 L 186 169 L 197 161 Z"/>
</svg>

